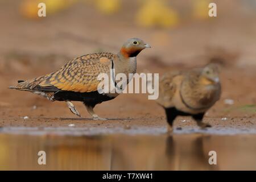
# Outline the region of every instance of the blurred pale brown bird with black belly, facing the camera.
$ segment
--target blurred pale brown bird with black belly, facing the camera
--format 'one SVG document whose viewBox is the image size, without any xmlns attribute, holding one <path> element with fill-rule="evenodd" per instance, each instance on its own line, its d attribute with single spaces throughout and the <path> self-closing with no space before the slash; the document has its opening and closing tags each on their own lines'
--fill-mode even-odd
<svg viewBox="0 0 256 182">
<path fill-rule="evenodd" d="M 188 71 L 165 73 L 159 81 L 159 98 L 156 100 L 166 111 L 168 130 L 178 115 L 191 115 L 201 128 L 205 112 L 219 100 L 221 84 L 216 64 Z"/>
</svg>

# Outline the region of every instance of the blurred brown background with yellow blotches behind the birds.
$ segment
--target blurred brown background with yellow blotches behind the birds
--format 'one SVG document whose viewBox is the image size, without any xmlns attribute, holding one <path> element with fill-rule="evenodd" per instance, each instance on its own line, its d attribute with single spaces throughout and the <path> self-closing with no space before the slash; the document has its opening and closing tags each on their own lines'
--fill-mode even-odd
<svg viewBox="0 0 256 182">
<path fill-rule="evenodd" d="M 46 17 L 38 17 L 39 2 Z M 256 65 L 256 1 L 214 1 L 212 18 L 209 2 L 1 0 L 0 71 L 57 69 L 75 56 L 118 52 L 131 37 L 152 44 L 139 55 L 139 69 L 196 66 L 209 57 L 228 67 Z"/>
</svg>

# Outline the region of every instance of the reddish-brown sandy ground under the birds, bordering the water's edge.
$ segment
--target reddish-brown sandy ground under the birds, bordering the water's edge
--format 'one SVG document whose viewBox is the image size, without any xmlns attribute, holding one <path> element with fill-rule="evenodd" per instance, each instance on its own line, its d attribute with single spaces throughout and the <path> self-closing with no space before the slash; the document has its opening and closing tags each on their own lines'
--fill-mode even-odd
<svg viewBox="0 0 256 182">
<path fill-rule="evenodd" d="M 233 72 L 237 74 L 234 75 Z M 229 77 L 232 80 L 229 80 Z M 232 68 L 222 72 L 221 78 L 223 85 L 221 100 L 207 112 L 205 122 L 209 122 L 216 129 L 223 127 L 241 130 L 256 129 L 255 110 L 250 107 L 241 107 L 255 102 L 255 94 L 250 92 L 255 90 L 255 86 L 250 85 L 251 80 L 256 78 L 254 74 Z M 109 120 L 93 121 L 80 102 L 74 102 L 74 104 L 80 111 L 81 118 L 73 115 L 65 102 L 51 102 L 28 92 L 6 89 L 10 82 L 7 78 L 4 80 L 6 82 L 1 83 L 3 85 L 1 94 L 5 95 L 1 101 L 0 111 L 2 127 L 65 127 L 74 124 L 74 127 L 121 127 L 129 130 L 138 126 L 164 127 L 166 125 L 162 107 L 154 100 L 148 100 L 146 94 L 121 94 L 112 101 L 96 106 L 96 112 Z M 233 82 L 239 84 L 233 84 Z M 234 100 L 234 104 L 226 105 L 226 98 Z M 24 119 L 26 116 L 28 118 Z M 196 128 L 191 118 L 177 118 L 175 127 L 184 126 Z"/>
</svg>

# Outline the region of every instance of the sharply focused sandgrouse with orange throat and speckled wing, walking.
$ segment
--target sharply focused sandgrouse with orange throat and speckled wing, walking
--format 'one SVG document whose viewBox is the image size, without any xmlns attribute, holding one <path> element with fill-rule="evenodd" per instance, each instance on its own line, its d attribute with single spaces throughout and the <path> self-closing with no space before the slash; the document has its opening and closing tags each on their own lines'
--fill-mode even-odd
<svg viewBox="0 0 256 182">
<path fill-rule="evenodd" d="M 68 61 L 58 71 L 27 81 L 18 81 L 17 86 L 10 89 L 25 90 L 50 101 L 65 101 L 73 114 L 80 117 L 79 111 L 71 101 L 81 101 L 94 120 L 105 120 L 94 113 L 95 105 L 117 97 L 117 93 L 98 93 L 97 87 L 100 73 L 110 75 L 110 69 L 115 69 L 115 75 L 135 73 L 137 68 L 136 56 L 144 48 L 150 46 L 138 38 L 131 38 L 123 44 L 117 53 L 91 53 Z"/>
</svg>

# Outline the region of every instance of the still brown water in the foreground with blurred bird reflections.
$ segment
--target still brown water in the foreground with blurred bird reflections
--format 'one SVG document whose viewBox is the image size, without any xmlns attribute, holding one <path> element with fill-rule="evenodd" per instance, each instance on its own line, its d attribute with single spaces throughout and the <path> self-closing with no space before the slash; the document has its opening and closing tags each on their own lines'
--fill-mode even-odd
<svg viewBox="0 0 256 182">
<path fill-rule="evenodd" d="M 218 170 L 256 169 L 255 135 L 0 134 L 0 169 Z M 38 151 L 47 165 L 39 166 Z M 208 152 L 217 152 L 217 165 Z"/>
</svg>

